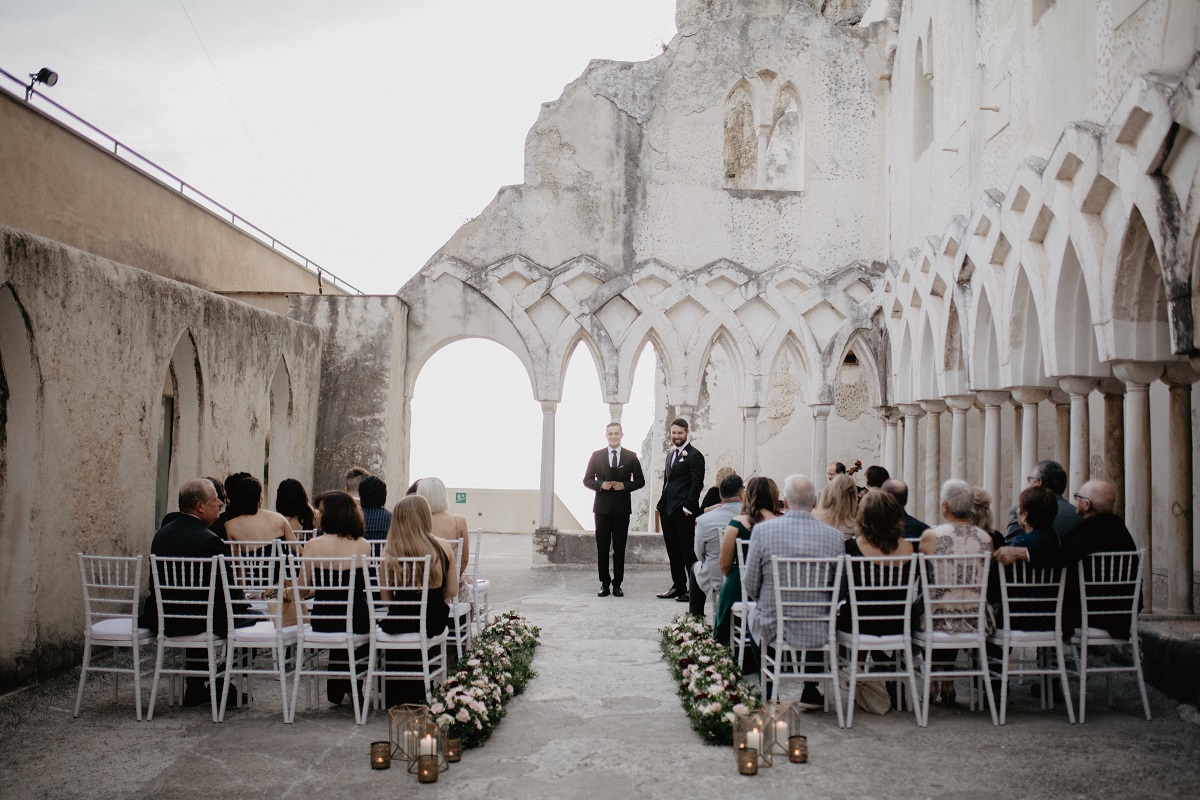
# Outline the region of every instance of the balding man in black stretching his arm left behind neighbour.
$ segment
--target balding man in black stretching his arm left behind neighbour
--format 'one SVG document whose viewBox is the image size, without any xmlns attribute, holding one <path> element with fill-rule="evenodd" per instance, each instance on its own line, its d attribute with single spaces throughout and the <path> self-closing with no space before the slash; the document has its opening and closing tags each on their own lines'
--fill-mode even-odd
<svg viewBox="0 0 1200 800">
<path fill-rule="evenodd" d="M 1117 491 L 1108 481 L 1088 481 L 1075 494 L 1075 510 L 1082 517 L 1075 529 L 1068 534 L 1067 541 L 1058 549 L 1002 547 L 996 551 L 996 560 L 1001 564 L 1027 560 L 1033 566 L 1067 567 L 1067 589 L 1063 596 L 1062 631 L 1072 636 L 1079 627 L 1082 613 L 1079 606 L 1079 570 L 1075 564 L 1092 553 L 1134 552 L 1138 546 L 1126 528 L 1121 517 L 1114 513 Z M 1139 599 L 1140 601 L 1140 599 Z M 1139 602 L 1139 610 L 1141 604 Z M 1129 638 L 1128 616 L 1098 616 L 1100 627 L 1115 638 Z"/>
</svg>

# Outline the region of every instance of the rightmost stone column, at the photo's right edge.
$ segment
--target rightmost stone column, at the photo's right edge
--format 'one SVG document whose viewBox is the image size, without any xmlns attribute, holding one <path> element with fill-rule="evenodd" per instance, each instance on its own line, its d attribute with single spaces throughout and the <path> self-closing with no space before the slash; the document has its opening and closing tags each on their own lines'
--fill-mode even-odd
<svg viewBox="0 0 1200 800">
<path fill-rule="evenodd" d="M 1168 365 L 1163 383 L 1170 391 L 1166 417 L 1166 610 L 1195 613 L 1192 600 L 1192 564 L 1195 555 L 1192 519 L 1192 384 L 1200 373 L 1186 362 Z"/>
</svg>

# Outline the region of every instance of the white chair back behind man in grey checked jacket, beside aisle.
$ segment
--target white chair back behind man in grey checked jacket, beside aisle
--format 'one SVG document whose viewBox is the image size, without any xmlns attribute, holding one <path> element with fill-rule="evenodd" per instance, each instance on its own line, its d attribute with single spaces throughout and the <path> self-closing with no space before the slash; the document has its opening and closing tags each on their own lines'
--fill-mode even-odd
<svg viewBox="0 0 1200 800">
<path fill-rule="evenodd" d="M 845 558 L 770 557 L 776 648 L 817 649 L 836 636 Z"/>
</svg>

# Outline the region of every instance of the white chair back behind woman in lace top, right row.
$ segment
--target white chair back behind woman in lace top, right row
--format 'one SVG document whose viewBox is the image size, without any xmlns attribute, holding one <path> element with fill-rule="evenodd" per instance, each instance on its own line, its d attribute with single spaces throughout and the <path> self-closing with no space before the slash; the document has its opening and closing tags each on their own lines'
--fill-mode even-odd
<svg viewBox="0 0 1200 800">
<path fill-rule="evenodd" d="M 991 553 L 919 558 L 925 630 L 986 634 Z"/>
</svg>

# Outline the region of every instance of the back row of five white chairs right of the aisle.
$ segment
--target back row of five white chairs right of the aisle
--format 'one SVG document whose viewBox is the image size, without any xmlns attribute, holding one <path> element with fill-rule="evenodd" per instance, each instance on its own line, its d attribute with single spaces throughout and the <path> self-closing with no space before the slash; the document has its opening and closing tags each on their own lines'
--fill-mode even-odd
<svg viewBox="0 0 1200 800">
<path fill-rule="evenodd" d="M 1079 721 L 1085 720 L 1087 676 L 1103 673 L 1133 672 L 1136 675 L 1146 718 L 1150 702 L 1141 669 L 1138 640 L 1138 608 L 1142 587 L 1145 551 L 1094 553 L 1078 565 L 1082 622 L 1064 637 L 1062 612 L 1066 569 L 1032 567 L 1018 563 L 998 570 L 1001 619 L 991 636 L 986 632 L 988 581 L 991 555 L 925 555 L 900 558 L 802 559 L 773 557 L 776 633 L 770 648 L 763 648 L 761 681 L 767 698 L 778 697 L 781 681 L 820 681 L 827 685 L 826 705 L 833 694 L 838 723 L 853 724 L 858 684 L 896 681 L 896 708 L 901 706 L 902 687 L 908 690 L 910 705 L 918 726 L 929 723 L 930 686 L 934 680 L 971 678 L 971 709 L 986 697 L 994 724 L 1004 724 L 1010 678 L 1033 676 L 1042 681 L 1042 706 L 1052 708 L 1056 679 L 1066 698 L 1067 716 L 1075 722 L 1068 682 L 1066 648 L 1069 643 L 1075 668 L 1069 674 L 1079 681 Z M 848 596 L 842 597 L 842 584 Z M 912 608 L 918 585 L 923 606 L 923 626 L 913 630 Z M 848 603 L 851 630 L 838 630 L 838 610 Z M 864 622 L 889 622 L 895 633 L 869 634 Z M 1114 637 L 1106 630 L 1114 621 L 1128 622 L 1128 638 Z M 788 643 L 788 628 L 805 626 L 822 631 L 817 646 Z M 794 636 L 792 637 L 794 639 Z M 989 645 L 992 657 L 989 658 Z M 1112 648 L 1128 646 L 1132 664 L 1114 663 Z M 1105 662 L 1092 666 L 1090 652 L 1108 648 Z M 966 668 L 958 664 L 935 667 L 938 651 L 959 650 L 968 655 Z M 1022 654 L 1033 650 L 1034 657 Z M 871 652 L 892 656 L 881 662 L 866 662 L 860 656 Z M 998 656 L 995 654 L 1000 654 Z M 808 654 L 808 656 L 805 656 Z M 805 661 L 808 657 L 808 661 Z M 887 667 L 881 669 L 880 667 Z M 842 704 L 839 667 L 848 676 L 848 692 Z M 1001 697 L 992 694 L 991 681 L 998 680 Z M 906 685 L 906 686 L 905 686 Z M 980 690 L 982 687 L 982 690 Z"/>
</svg>

